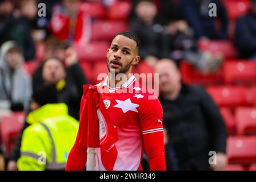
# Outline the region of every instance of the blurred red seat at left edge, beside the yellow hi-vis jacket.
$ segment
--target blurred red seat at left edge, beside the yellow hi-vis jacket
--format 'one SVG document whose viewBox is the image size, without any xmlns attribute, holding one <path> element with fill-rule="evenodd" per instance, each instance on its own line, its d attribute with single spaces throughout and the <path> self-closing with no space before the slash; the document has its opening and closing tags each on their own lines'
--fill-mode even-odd
<svg viewBox="0 0 256 182">
<path fill-rule="evenodd" d="M 23 112 L 2 116 L 0 133 L 3 146 L 5 147 L 5 154 L 7 155 L 13 150 L 15 139 L 23 127 L 24 118 L 25 113 Z"/>
</svg>

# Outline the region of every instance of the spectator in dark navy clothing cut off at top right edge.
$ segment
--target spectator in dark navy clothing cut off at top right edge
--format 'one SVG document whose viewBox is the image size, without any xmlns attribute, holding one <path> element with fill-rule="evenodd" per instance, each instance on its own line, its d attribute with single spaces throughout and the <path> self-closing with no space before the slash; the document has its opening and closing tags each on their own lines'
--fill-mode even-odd
<svg viewBox="0 0 256 182">
<path fill-rule="evenodd" d="M 256 1 L 251 0 L 249 13 L 237 20 L 234 43 L 241 58 L 256 60 Z"/>
</svg>

